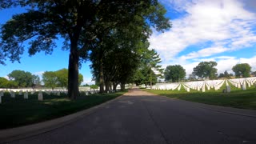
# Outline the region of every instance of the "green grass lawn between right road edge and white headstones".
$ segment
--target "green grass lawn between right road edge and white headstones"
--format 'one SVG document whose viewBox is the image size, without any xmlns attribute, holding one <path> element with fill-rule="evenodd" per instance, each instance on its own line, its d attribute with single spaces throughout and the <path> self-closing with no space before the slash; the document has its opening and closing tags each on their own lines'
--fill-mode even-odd
<svg viewBox="0 0 256 144">
<path fill-rule="evenodd" d="M 206 92 L 202 93 L 198 90 L 190 90 L 190 92 L 186 92 L 186 90 L 182 87 L 180 91 L 178 90 L 146 90 L 153 94 L 165 95 L 169 98 L 178 98 L 191 102 L 201 102 L 210 105 L 218 105 L 218 106 L 230 106 L 241 109 L 250 109 L 256 110 L 256 88 L 251 86 L 250 88 L 246 87 L 247 90 L 240 90 L 231 87 L 230 93 L 222 93 L 222 90 L 226 84 L 219 90 L 206 90 Z"/>
</svg>

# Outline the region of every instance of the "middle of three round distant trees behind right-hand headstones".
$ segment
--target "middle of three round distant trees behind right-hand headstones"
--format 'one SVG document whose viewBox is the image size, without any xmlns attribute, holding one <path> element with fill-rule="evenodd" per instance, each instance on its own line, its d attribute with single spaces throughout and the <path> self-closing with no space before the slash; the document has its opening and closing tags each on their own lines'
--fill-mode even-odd
<svg viewBox="0 0 256 144">
<path fill-rule="evenodd" d="M 217 66 L 217 62 L 200 62 L 198 66 L 194 67 L 192 74 L 199 78 L 217 78 L 217 69 L 214 66 Z"/>
</svg>

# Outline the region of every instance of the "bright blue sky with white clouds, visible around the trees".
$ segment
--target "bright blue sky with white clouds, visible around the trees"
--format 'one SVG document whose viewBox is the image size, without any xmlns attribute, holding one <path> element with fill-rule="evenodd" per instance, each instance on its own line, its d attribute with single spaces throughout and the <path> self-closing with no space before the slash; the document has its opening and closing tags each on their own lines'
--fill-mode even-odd
<svg viewBox="0 0 256 144">
<path fill-rule="evenodd" d="M 232 66 L 246 62 L 256 70 L 256 1 L 254 0 L 160 0 L 166 6 L 166 16 L 173 27 L 165 33 L 154 31 L 150 49 L 158 51 L 162 67 L 179 64 L 191 74 L 203 61 L 218 62 L 218 73 L 232 73 Z M 24 10 L 0 10 L 0 24 L 13 14 Z M 0 77 L 12 70 L 30 71 L 42 75 L 46 70 L 68 67 L 69 51 L 61 50 L 62 42 L 53 54 L 43 52 L 29 57 L 22 55 L 21 63 L 6 61 L 0 65 Z M 90 62 L 82 64 L 83 83 L 91 83 Z"/>
</svg>

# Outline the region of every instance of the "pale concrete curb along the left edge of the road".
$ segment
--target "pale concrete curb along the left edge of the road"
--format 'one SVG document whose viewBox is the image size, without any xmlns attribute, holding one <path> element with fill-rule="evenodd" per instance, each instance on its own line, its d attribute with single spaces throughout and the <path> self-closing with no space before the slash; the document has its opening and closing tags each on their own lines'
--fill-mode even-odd
<svg viewBox="0 0 256 144">
<path fill-rule="evenodd" d="M 122 96 L 123 95 L 119 96 L 118 98 L 122 98 Z M 102 106 L 106 106 L 110 102 L 118 100 L 118 98 L 111 99 L 110 101 L 104 102 L 98 106 L 78 111 L 77 113 L 66 115 L 61 118 L 55 118 L 53 120 L 39 122 L 28 126 L 20 126 L 11 129 L 0 130 L 0 143 L 17 141 L 19 139 L 32 137 L 38 134 L 58 129 L 62 126 L 66 126 L 70 122 L 77 121 L 79 118 L 83 118 L 86 115 L 94 114 L 96 110 L 99 110 Z"/>
</svg>

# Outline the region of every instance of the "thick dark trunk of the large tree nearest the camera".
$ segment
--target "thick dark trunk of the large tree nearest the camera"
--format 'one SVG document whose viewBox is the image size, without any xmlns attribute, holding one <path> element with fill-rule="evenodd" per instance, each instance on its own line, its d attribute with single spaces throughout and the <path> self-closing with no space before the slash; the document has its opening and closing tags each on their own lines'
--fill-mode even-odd
<svg viewBox="0 0 256 144">
<path fill-rule="evenodd" d="M 71 99 L 76 99 L 79 95 L 78 89 L 78 62 L 79 54 L 77 50 L 78 43 L 70 43 L 70 59 L 68 70 L 68 96 Z"/>
</svg>

